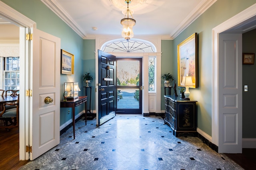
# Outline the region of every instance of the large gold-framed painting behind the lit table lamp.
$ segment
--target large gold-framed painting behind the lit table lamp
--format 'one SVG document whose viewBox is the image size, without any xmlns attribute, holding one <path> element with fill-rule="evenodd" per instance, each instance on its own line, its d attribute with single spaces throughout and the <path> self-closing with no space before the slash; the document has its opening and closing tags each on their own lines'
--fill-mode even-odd
<svg viewBox="0 0 256 170">
<path fill-rule="evenodd" d="M 197 33 L 182 41 L 177 46 L 178 52 L 178 86 L 183 86 L 182 80 L 188 76 L 192 78 L 193 85 L 198 87 L 198 36 Z"/>
</svg>

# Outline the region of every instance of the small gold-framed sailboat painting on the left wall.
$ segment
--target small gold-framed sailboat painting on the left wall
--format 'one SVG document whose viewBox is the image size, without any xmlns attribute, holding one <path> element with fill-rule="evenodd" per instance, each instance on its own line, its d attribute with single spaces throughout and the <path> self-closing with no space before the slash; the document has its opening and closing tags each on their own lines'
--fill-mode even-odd
<svg viewBox="0 0 256 170">
<path fill-rule="evenodd" d="M 61 49 L 61 73 L 74 74 L 74 55 Z"/>
</svg>

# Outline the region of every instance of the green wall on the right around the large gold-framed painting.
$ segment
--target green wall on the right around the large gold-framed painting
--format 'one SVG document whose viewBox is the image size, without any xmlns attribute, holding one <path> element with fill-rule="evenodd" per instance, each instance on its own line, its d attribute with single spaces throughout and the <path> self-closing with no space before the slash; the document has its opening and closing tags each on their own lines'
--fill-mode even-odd
<svg viewBox="0 0 256 170">
<path fill-rule="evenodd" d="M 212 135 L 212 29 L 249 6 L 255 0 L 218 0 L 174 39 L 173 72 L 177 77 L 177 50 L 179 43 L 193 33 L 198 33 L 199 86 L 190 88 L 190 96 L 197 100 L 198 128 Z"/>
</svg>

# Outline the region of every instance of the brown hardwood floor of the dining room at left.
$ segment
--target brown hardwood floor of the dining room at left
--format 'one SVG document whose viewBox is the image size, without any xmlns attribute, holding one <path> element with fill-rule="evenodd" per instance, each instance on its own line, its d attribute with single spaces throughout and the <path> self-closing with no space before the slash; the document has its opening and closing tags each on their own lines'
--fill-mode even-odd
<svg viewBox="0 0 256 170">
<path fill-rule="evenodd" d="M 0 170 L 18 170 L 29 160 L 19 159 L 19 129 L 0 128 Z"/>
</svg>

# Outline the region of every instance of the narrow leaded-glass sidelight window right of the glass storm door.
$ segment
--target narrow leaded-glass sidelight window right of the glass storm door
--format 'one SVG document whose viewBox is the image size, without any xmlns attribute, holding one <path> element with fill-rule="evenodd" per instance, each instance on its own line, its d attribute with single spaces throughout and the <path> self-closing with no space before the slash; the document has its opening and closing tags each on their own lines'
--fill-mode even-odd
<svg viewBox="0 0 256 170">
<path fill-rule="evenodd" d="M 156 57 L 148 57 L 148 91 L 155 91 L 155 60 Z"/>
</svg>

